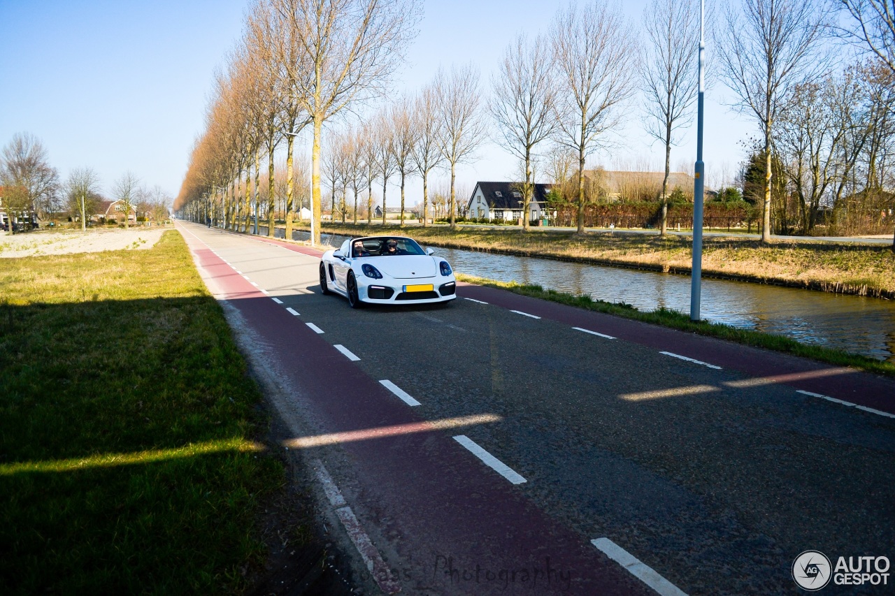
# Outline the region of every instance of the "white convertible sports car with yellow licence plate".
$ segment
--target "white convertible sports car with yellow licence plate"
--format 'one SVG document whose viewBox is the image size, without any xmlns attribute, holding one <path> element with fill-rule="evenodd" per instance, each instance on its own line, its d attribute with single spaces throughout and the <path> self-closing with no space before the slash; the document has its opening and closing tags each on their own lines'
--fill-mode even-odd
<svg viewBox="0 0 895 596">
<path fill-rule="evenodd" d="M 370 304 L 448 302 L 456 279 L 447 260 L 404 236 L 349 238 L 320 260 L 320 290 L 342 294 L 352 308 Z"/>
</svg>

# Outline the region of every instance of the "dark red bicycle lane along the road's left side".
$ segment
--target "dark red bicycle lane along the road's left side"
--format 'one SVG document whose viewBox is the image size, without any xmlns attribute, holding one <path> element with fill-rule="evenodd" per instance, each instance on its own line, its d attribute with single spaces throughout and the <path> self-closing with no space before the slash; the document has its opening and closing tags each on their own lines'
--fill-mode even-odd
<svg viewBox="0 0 895 596">
<path fill-rule="evenodd" d="M 291 444 L 336 437 L 357 487 L 349 504 L 405 592 L 652 593 L 589 543 L 596 537 L 556 523 L 525 497 L 524 484 L 511 485 L 460 447 L 451 436 L 468 421 L 425 420 L 211 250 L 193 252 L 274 358 L 293 406 L 318 421 L 318 434 Z M 304 448 L 327 461 L 324 447 Z"/>
</svg>

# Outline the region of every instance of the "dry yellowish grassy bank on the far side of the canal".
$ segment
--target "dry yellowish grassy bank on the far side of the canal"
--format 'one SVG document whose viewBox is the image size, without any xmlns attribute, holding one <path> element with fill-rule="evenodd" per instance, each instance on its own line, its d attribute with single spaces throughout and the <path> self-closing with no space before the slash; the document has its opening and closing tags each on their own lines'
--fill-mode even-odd
<svg viewBox="0 0 895 596">
<path fill-rule="evenodd" d="M 519 230 L 463 226 L 456 231 L 447 226 L 405 229 L 406 234 L 432 246 L 690 272 L 691 241 L 680 236 L 579 236 L 537 228 L 524 234 Z M 324 230 L 332 234 L 380 234 L 382 226 L 325 226 Z M 703 244 L 703 276 L 892 299 L 895 253 L 884 245 L 780 242 L 764 246 L 748 238 L 707 238 Z"/>
</svg>

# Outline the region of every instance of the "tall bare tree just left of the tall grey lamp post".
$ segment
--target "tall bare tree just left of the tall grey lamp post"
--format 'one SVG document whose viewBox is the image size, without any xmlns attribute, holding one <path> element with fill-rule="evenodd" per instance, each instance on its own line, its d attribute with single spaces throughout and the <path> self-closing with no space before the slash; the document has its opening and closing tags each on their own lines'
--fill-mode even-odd
<svg viewBox="0 0 895 596">
<path fill-rule="evenodd" d="M 699 6 L 693 0 L 652 0 L 644 9 L 647 45 L 643 85 L 646 132 L 665 145 L 665 177 L 661 190 L 660 235 L 668 228 L 669 175 L 674 133 L 692 113 L 697 95 L 693 56 L 699 51 Z"/>
</svg>

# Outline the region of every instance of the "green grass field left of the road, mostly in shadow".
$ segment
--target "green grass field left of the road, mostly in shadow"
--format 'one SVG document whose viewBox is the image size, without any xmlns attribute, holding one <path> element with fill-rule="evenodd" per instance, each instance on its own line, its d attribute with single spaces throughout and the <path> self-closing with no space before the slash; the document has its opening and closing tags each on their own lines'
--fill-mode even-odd
<svg viewBox="0 0 895 596">
<path fill-rule="evenodd" d="M 241 590 L 260 400 L 180 234 L 0 260 L 0 592 Z"/>
</svg>

